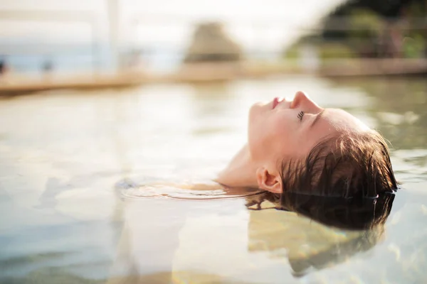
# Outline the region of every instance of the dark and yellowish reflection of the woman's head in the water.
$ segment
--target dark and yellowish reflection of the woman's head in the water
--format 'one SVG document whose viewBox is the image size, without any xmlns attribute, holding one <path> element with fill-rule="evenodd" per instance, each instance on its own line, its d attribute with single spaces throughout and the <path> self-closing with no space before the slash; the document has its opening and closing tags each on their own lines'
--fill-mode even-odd
<svg viewBox="0 0 427 284">
<path fill-rule="evenodd" d="M 251 209 L 248 249 L 268 251 L 271 258 L 288 258 L 295 276 L 333 266 L 378 243 L 393 200 L 394 194 L 389 193 L 360 204 L 295 193 L 251 197 L 246 204 Z M 294 212 L 278 214 L 275 210 L 287 210 L 284 203 L 290 202 Z"/>
</svg>

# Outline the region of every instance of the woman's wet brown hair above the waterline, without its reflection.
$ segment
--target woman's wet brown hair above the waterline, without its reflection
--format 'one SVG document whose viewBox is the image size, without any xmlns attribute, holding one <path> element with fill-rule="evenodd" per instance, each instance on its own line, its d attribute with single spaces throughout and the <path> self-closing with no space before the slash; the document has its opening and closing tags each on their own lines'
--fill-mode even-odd
<svg viewBox="0 0 427 284">
<path fill-rule="evenodd" d="M 327 137 L 304 159 L 284 160 L 280 177 L 284 193 L 354 200 L 375 198 L 397 188 L 389 148 L 376 131 L 343 131 Z"/>
</svg>

